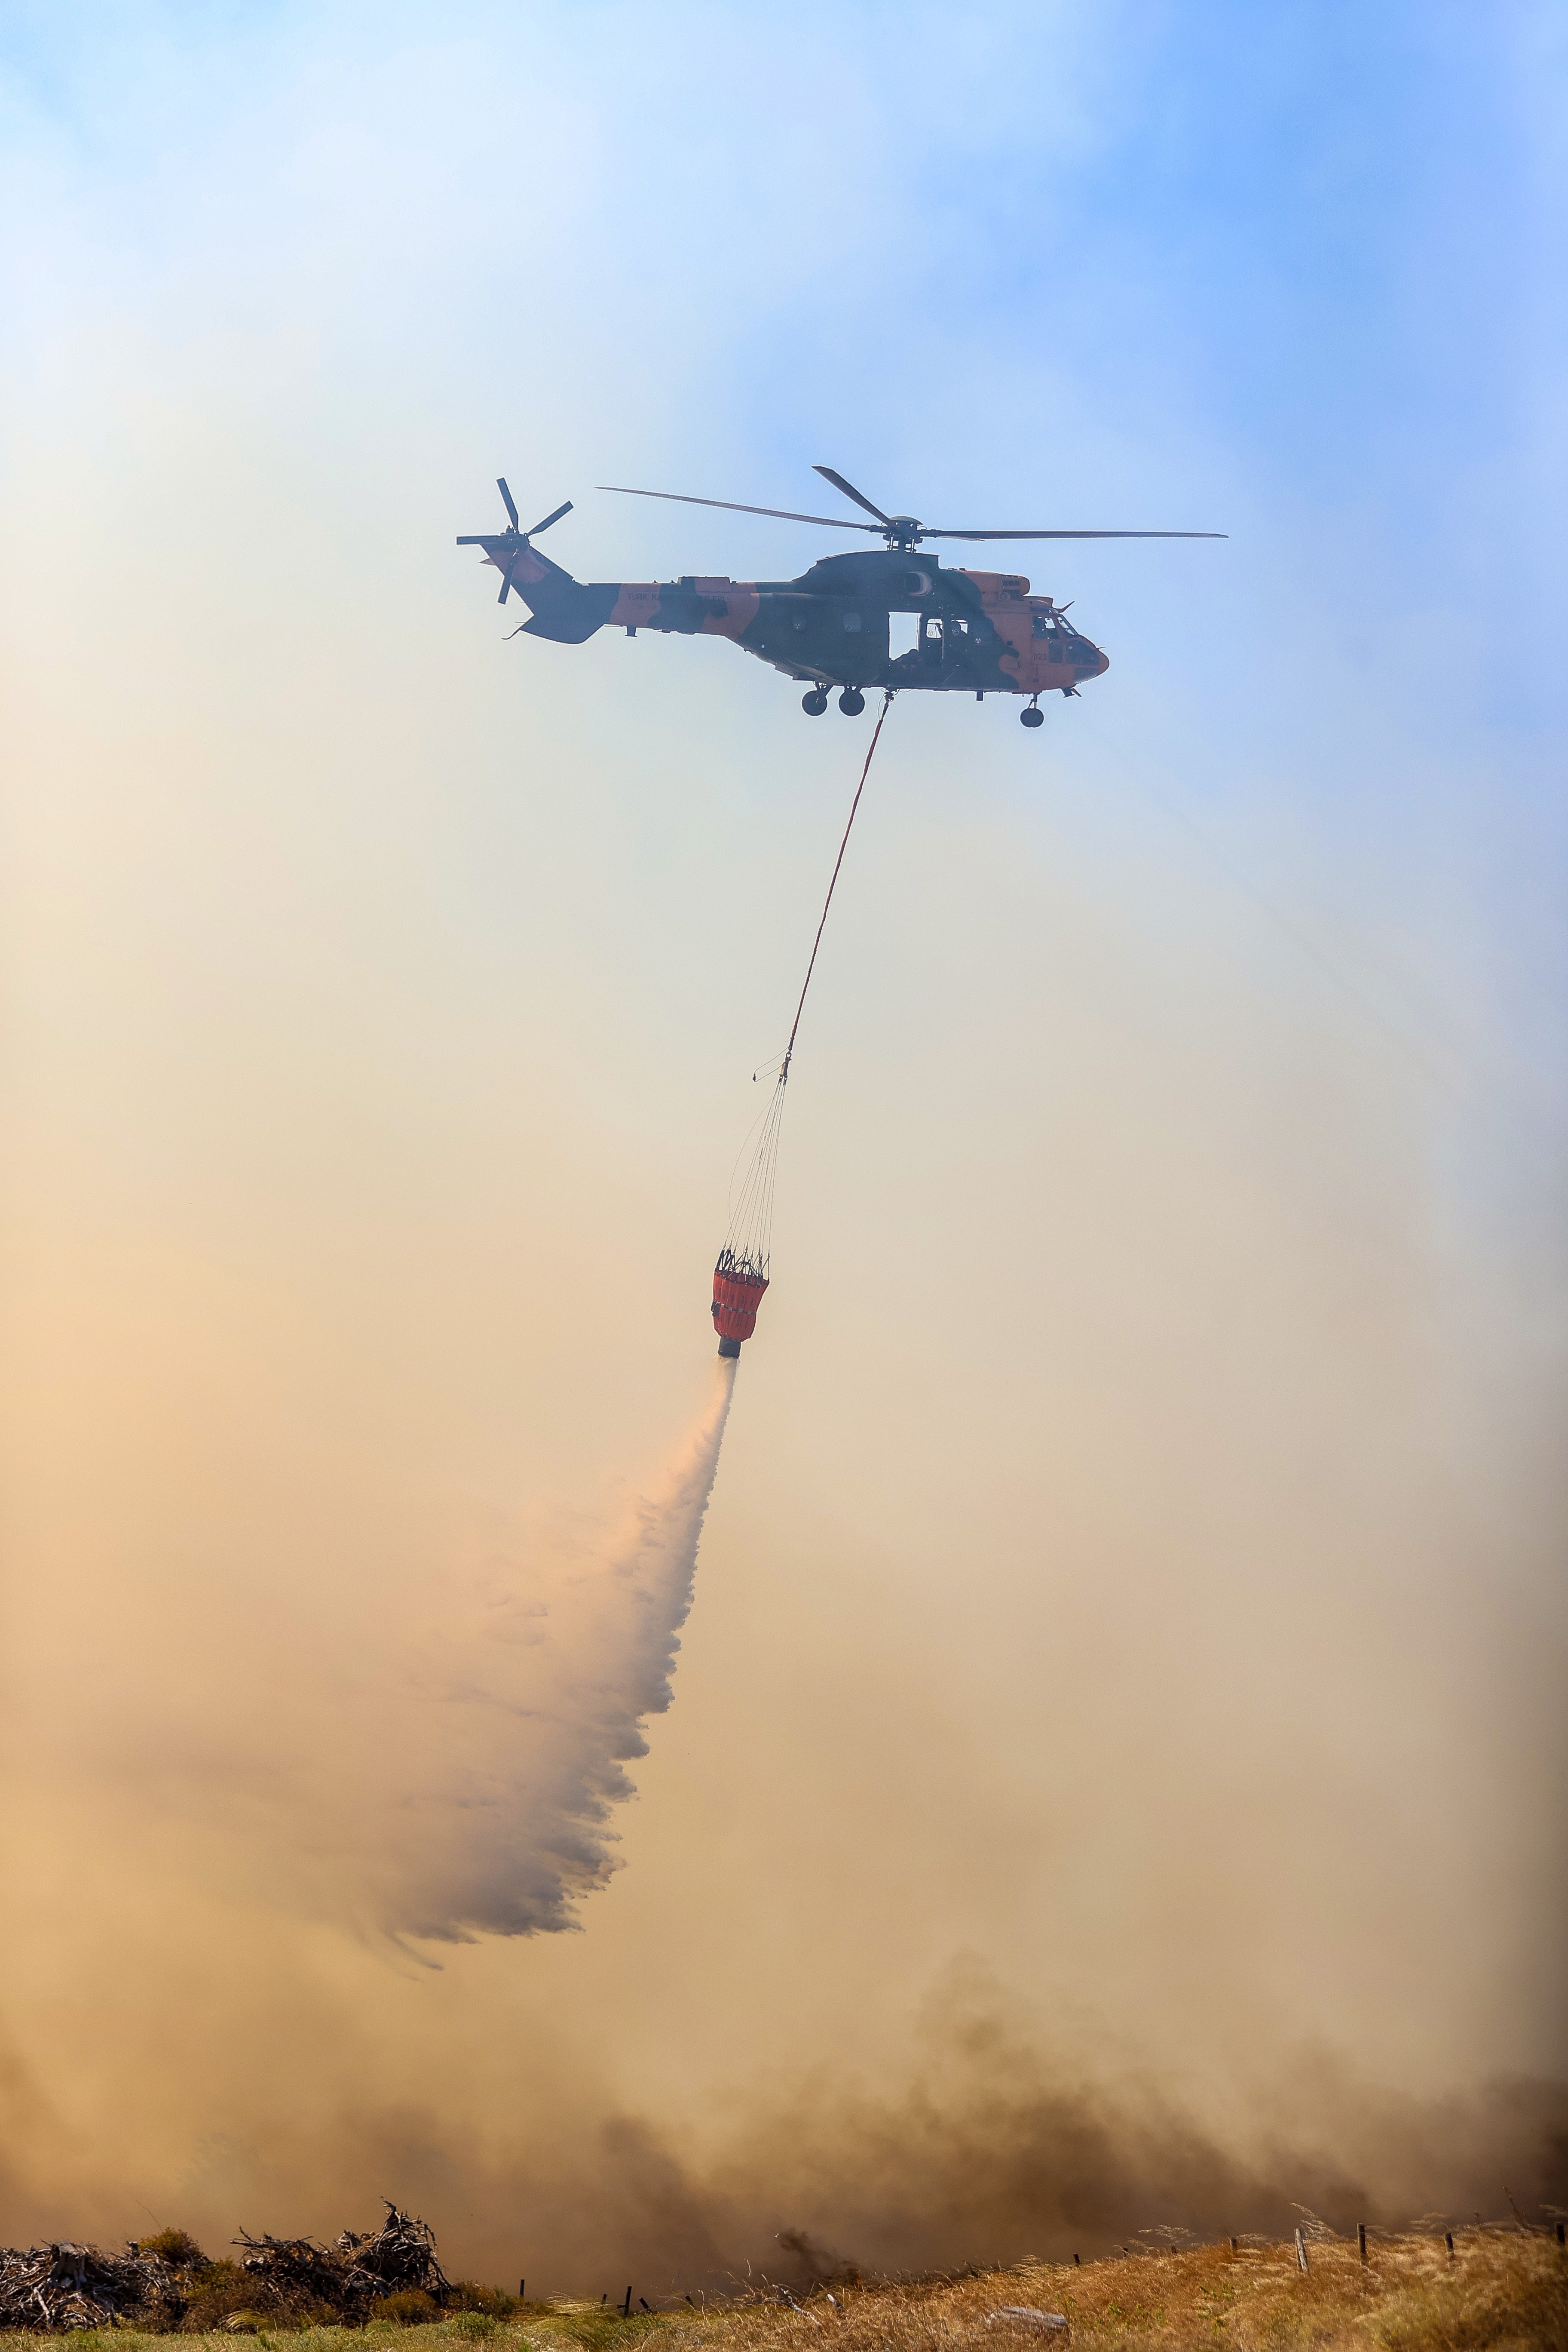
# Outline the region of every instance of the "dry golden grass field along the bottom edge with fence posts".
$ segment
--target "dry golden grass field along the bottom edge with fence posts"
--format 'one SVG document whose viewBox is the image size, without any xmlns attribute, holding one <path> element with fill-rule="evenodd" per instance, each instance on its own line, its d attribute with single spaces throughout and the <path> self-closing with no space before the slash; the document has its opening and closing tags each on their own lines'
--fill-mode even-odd
<svg viewBox="0 0 1568 2352">
<path fill-rule="evenodd" d="M 409 2326 L 277 2328 L 235 2314 L 200 2338 L 209 2352 L 235 2333 L 287 2352 L 1030 2352 L 1044 2345 L 1237 2347 L 1237 2352 L 1568 2352 L 1568 2256 L 1544 2234 L 1472 2230 L 1455 2237 L 1378 2237 L 1366 2267 L 1354 2241 L 1314 2237 L 1302 2272 L 1291 2241 L 1234 2251 L 1187 2246 L 1124 2253 L 1081 2267 L 1016 2263 L 922 2281 L 832 2281 L 677 2303 L 621 2319 L 588 2303 L 458 2310 Z M 510 2298 L 494 2298 L 505 2305 Z M 992 2317 L 1013 2305 L 1053 2312 L 1067 2328 Z M 656 2338 L 656 2343 L 644 2343 Z M 167 2336 L 80 2331 L 75 2352 L 167 2352 Z M 0 2352 L 38 2352 L 38 2336 L 0 2336 Z"/>
</svg>

